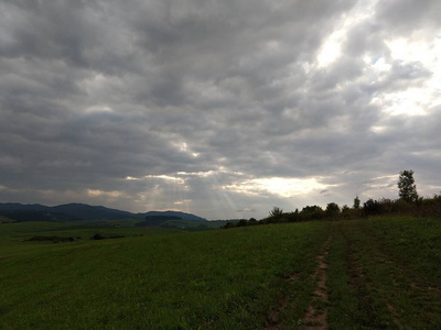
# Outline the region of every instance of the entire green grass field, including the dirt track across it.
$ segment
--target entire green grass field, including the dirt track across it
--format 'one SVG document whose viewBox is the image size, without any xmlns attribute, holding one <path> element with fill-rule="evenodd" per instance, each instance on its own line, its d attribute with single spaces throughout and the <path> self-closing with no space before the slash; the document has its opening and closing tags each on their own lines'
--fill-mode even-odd
<svg viewBox="0 0 441 330">
<path fill-rule="evenodd" d="M 1 223 L 0 270 L 0 329 L 441 329 L 439 219 Z"/>
</svg>

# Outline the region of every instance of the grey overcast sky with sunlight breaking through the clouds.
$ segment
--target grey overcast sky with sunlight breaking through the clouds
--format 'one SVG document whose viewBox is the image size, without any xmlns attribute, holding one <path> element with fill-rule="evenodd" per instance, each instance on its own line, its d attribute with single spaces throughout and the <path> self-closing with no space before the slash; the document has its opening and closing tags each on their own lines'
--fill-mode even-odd
<svg viewBox="0 0 441 330">
<path fill-rule="evenodd" d="M 0 201 L 207 219 L 441 190 L 440 0 L 0 0 Z"/>
</svg>

